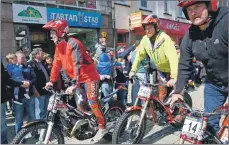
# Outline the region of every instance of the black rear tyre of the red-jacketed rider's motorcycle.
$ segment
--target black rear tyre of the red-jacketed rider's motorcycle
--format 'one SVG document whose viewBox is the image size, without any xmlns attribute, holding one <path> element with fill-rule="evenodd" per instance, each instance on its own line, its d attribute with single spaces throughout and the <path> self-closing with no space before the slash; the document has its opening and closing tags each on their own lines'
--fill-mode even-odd
<svg viewBox="0 0 229 145">
<path fill-rule="evenodd" d="M 106 115 L 110 112 L 110 110 L 112 108 L 114 108 L 114 107 L 117 108 L 117 109 L 119 109 L 122 114 L 126 110 L 126 106 L 122 102 L 120 102 L 118 100 L 112 100 L 112 101 L 109 102 L 109 109 L 107 110 L 106 114 L 104 115 L 105 118 L 106 118 Z M 104 135 L 103 136 L 103 139 L 105 139 L 107 141 L 111 141 L 112 140 L 112 134 L 109 134 L 108 133 L 108 134 Z"/>
</svg>

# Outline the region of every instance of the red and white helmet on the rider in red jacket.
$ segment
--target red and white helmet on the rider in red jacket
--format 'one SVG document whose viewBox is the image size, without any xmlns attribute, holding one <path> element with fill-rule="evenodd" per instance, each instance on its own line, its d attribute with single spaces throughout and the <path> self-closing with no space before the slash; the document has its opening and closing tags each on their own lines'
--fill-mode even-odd
<svg viewBox="0 0 229 145">
<path fill-rule="evenodd" d="M 64 37 L 69 33 L 69 27 L 66 20 L 51 20 L 45 24 L 43 29 L 55 30 L 57 37 Z"/>
</svg>

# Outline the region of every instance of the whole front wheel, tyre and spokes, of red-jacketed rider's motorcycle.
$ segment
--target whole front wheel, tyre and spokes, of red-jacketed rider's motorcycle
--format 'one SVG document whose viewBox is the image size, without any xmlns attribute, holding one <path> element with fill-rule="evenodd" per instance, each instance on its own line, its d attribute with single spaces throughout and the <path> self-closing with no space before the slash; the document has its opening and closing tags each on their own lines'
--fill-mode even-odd
<svg viewBox="0 0 229 145">
<path fill-rule="evenodd" d="M 25 128 L 14 137 L 12 144 L 44 144 L 48 125 L 38 123 Z M 60 130 L 53 127 L 48 144 L 64 144 L 64 137 Z"/>
</svg>

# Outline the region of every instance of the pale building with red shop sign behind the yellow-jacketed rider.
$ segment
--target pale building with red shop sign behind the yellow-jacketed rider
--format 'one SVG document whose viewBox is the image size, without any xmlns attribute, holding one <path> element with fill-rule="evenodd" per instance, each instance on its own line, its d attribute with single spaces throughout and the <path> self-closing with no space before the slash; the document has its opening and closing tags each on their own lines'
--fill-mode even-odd
<svg viewBox="0 0 229 145">
<path fill-rule="evenodd" d="M 190 27 L 184 14 L 177 6 L 177 1 L 136 1 L 139 10 L 142 11 L 142 19 L 147 15 L 157 15 L 160 18 L 160 29 L 164 30 L 173 40 L 174 44 L 179 44 L 185 32 Z M 136 8 L 135 8 L 136 10 Z M 141 39 L 145 34 L 142 27 L 134 29 L 136 39 Z"/>
</svg>

